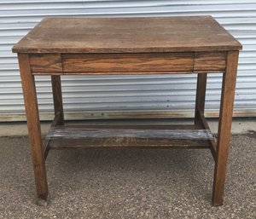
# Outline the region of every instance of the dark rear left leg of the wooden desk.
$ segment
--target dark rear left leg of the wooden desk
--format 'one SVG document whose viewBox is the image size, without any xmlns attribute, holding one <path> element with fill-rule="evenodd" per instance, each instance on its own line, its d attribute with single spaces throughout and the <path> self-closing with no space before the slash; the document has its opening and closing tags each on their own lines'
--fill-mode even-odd
<svg viewBox="0 0 256 219">
<path fill-rule="evenodd" d="M 59 124 L 64 124 L 64 113 L 62 104 L 62 93 L 61 93 L 61 76 L 52 75 L 51 76 L 52 94 L 55 107 L 55 115 L 60 112 Z"/>
</svg>

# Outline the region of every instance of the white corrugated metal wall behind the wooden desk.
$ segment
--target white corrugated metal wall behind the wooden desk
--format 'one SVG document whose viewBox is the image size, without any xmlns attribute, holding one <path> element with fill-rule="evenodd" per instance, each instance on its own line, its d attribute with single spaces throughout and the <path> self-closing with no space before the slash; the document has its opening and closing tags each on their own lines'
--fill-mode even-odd
<svg viewBox="0 0 256 219">
<path fill-rule="evenodd" d="M 236 116 L 256 115 L 256 0 L 0 0 L 0 120 L 23 120 L 17 58 L 11 48 L 45 16 L 167 16 L 210 14 L 242 44 L 236 85 Z M 145 39 L 147 40 L 147 39 Z M 195 75 L 62 77 L 68 118 L 193 116 Z M 38 77 L 41 118 L 50 118 L 49 77 Z M 210 75 L 207 114 L 216 116 L 220 75 Z M 71 113 L 73 111 L 86 112 Z M 143 112 L 146 111 L 146 112 Z M 174 113 L 175 112 L 175 113 Z"/>
</svg>

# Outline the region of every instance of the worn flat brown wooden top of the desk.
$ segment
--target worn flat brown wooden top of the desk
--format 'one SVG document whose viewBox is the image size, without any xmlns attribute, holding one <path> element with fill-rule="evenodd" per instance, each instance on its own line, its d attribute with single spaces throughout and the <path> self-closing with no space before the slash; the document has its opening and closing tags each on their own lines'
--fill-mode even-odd
<svg viewBox="0 0 256 219">
<path fill-rule="evenodd" d="M 143 53 L 238 50 L 211 16 L 45 18 L 15 53 Z"/>
</svg>

